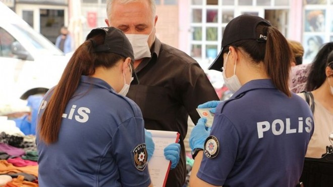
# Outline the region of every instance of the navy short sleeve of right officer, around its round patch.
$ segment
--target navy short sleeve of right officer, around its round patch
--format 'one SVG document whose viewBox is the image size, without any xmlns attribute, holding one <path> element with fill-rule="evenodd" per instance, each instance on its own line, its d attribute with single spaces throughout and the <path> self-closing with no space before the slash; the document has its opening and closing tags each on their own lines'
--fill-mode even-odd
<svg viewBox="0 0 333 187">
<path fill-rule="evenodd" d="M 210 184 L 223 185 L 236 161 L 239 135 L 225 115 L 215 114 L 210 136 L 217 139 L 218 153 L 214 158 L 203 155 L 197 176 Z"/>
</svg>

